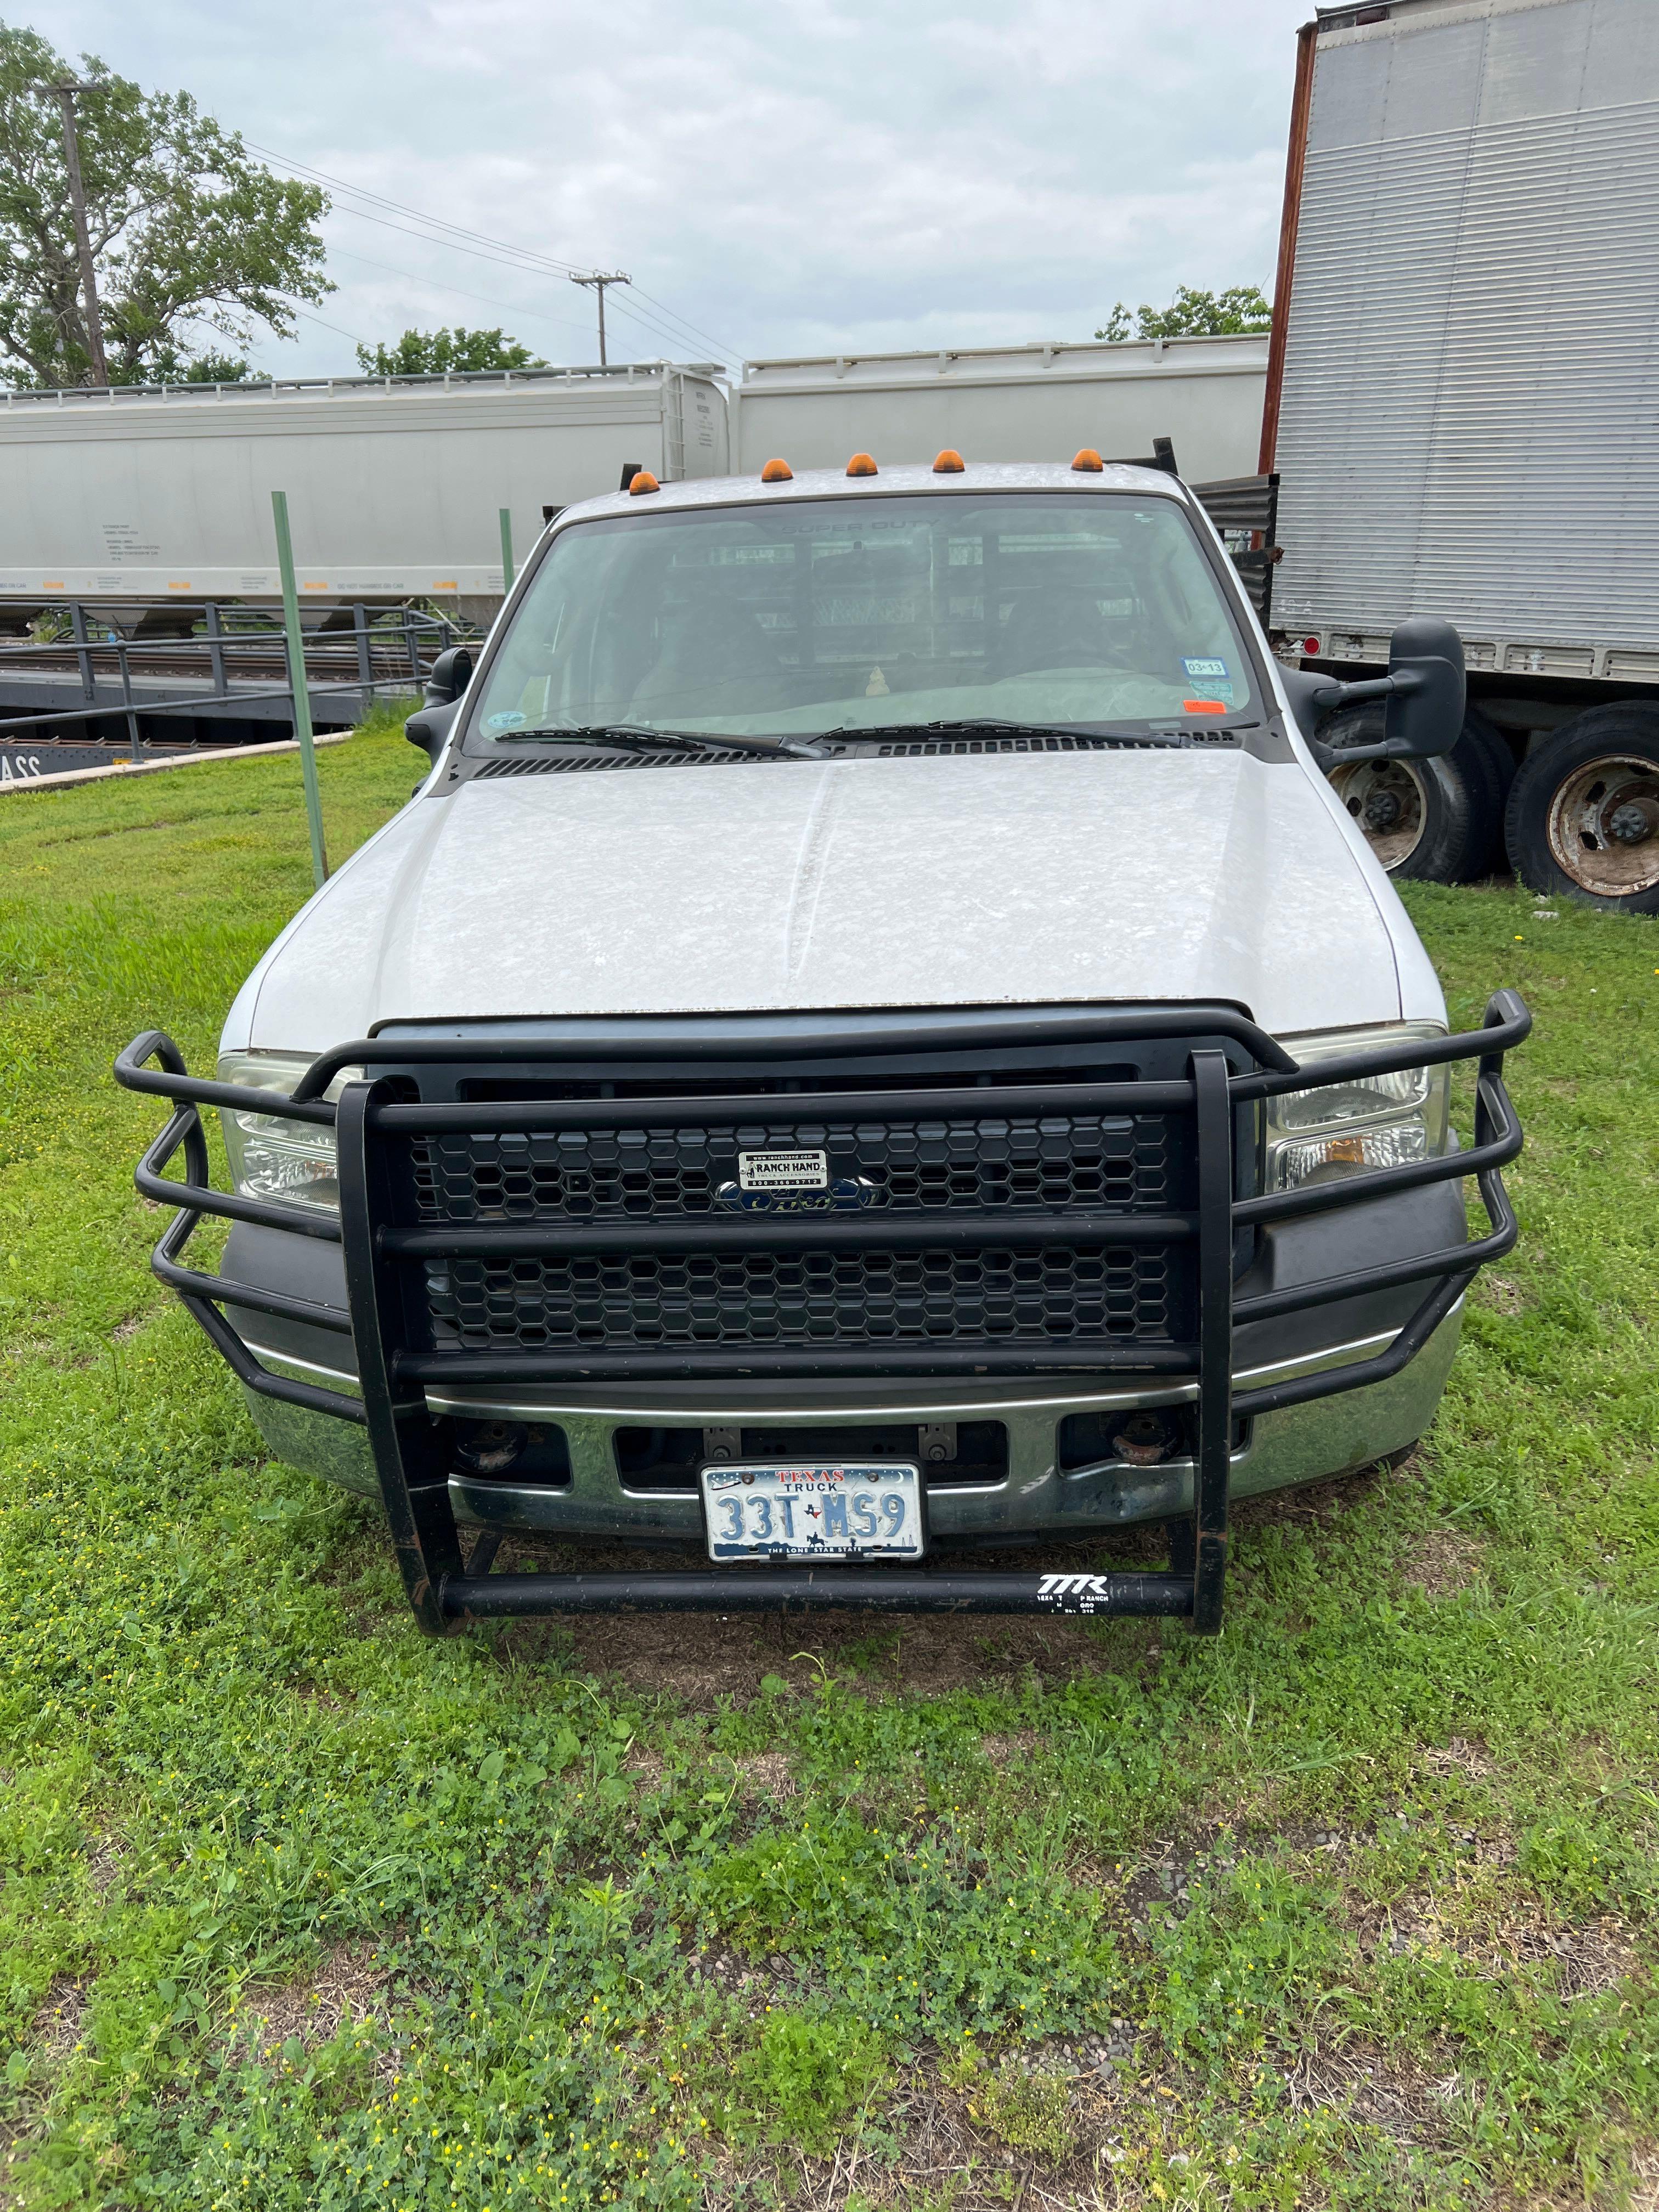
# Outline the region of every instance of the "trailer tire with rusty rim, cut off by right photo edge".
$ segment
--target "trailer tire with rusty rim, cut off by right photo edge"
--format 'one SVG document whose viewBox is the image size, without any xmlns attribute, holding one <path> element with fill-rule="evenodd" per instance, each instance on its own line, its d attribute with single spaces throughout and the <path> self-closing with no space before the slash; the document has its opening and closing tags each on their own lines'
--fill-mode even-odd
<svg viewBox="0 0 1659 2212">
<path fill-rule="evenodd" d="M 1659 706 L 1597 706 L 1522 761 L 1504 814 L 1528 891 L 1659 914 Z"/>
</svg>

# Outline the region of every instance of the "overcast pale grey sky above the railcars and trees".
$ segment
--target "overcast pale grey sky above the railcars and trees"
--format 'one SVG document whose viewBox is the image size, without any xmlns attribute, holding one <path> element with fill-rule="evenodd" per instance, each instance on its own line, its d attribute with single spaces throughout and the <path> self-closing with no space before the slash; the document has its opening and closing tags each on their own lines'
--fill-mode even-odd
<svg viewBox="0 0 1659 2212">
<path fill-rule="evenodd" d="M 635 276 L 611 358 L 1088 338 L 1177 283 L 1272 290 L 1305 0 L 0 0 L 268 155 L 509 250 Z M 272 164 L 281 166 L 281 164 Z M 325 221 L 338 290 L 276 374 L 493 325 L 593 361 L 593 296 Z M 661 307 L 690 323 L 664 334 Z M 334 327 L 325 327 L 334 325 Z"/>
</svg>

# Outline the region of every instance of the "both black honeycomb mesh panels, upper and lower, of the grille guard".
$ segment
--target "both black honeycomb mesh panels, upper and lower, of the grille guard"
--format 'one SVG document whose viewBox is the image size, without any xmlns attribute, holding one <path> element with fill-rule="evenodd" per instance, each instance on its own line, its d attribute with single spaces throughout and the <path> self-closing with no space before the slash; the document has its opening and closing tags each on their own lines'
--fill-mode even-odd
<svg viewBox="0 0 1659 2212">
<path fill-rule="evenodd" d="M 686 1102 L 672 1128 L 478 1130 L 411 1144 L 416 1217 L 615 1223 L 745 1219 L 723 1192 L 739 1152 L 823 1150 L 856 1179 L 863 1219 L 1002 1217 L 973 1250 L 617 1252 L 445 1259 L 427 1270 L 436 1349 L 1170 1343 L 1192 1334 L 1190 1270 L 1152 1245 L 1035 1245 L 1022 1212 L 1146 1214 L 1190 1203 L 1164 1115 L 1000 1113 L 721 1124 Z M 1015 1108 L 1015 1110 L 1009 1110 Z M 703 1119 L 697 1119 L 697 1117 Z"/>
</svg>

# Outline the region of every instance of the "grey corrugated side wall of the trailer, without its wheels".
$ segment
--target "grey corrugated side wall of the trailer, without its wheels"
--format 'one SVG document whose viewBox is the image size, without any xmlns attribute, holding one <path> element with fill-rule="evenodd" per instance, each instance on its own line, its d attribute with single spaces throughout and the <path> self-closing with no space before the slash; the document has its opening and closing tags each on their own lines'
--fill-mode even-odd
<svg viewBox="0 0 1659 2212">
<path fill-rule="evenodd" d="M 1659 679 L 1659 7 L 1321 15 L 1274 465 L 1285 626 Z M 1327 637 L 1329 633 L 1329 637 Z"/>
</svg>

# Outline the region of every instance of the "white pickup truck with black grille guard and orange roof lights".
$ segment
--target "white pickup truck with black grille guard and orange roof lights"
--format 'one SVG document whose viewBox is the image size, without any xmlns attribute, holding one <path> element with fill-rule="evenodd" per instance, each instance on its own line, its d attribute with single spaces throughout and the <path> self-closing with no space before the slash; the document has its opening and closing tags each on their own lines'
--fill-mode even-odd
<svg viewBox="0 0 1659 2212">
<path fill-rule="evenodd" d="M 1411 1444 L 1515 1237 L 1526 1009 L 1447 1035 L 1303 728 L 1352 695 L 1274 664 L 1168 473 L 641 471 L 440 664 L 431 772 L 248 978 L 217 1082 L 122 1053 L 175 1106 L 157 1272 L 270 1447 L 383 1498 L 431 1632 L 1214 1632 L 1228 1500 Z M 1407 624 L 1360 695 L 1378 754 L 1444 750 L 1455 633 Z M 1099 1557 L 1148 1520 L 1168 1571 Z M 491 1571 L 509 1533 L 597 1551 Z"/>
</svg>

